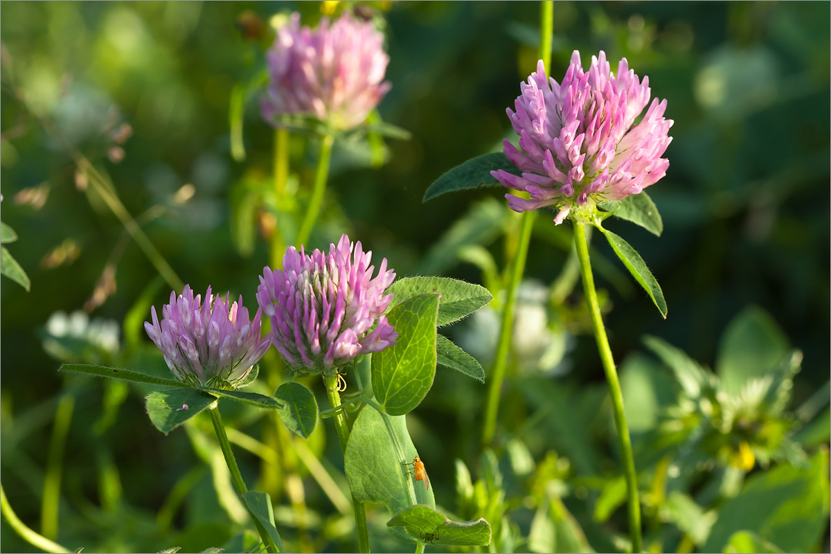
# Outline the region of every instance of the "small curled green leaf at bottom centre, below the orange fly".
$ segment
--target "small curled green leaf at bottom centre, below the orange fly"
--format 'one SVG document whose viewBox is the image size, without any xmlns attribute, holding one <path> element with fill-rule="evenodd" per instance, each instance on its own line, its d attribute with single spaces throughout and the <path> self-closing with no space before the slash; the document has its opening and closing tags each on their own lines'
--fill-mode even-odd
<svg viewBox="0 0 831 554">
<path fill-rule="evenodd" d="M 484 518 L 454 522 L 424 504 L 416 504 L 396 513 L 386 522 L 386 527 L 404 527 L 411 537 L 430 544 L 453 547 L 485 547 L 490 544 L 490 524 Z"/>
</svg>

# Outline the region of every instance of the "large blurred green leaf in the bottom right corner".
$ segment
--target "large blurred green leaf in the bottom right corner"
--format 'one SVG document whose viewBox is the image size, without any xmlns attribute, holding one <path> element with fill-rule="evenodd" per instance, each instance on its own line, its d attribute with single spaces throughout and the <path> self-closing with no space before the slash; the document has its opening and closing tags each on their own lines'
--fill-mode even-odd
<svg viewBox="0 0 831 554">
<path fill-rule="evenodd" d="M 829 454 L 808 468 L 780 463 L 755 473 L 719 510 L 702 552 L 721 552 L 737 531 L 757 533 L 784 552 L 815 552 L 829 524 Z"/>
</svg>

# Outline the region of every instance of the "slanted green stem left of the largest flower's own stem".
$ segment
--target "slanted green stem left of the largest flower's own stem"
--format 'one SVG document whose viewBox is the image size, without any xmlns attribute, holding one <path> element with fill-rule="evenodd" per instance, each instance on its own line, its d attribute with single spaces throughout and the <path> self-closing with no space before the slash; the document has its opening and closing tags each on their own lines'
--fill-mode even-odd
<svg viewBox="0 0 831 554">
<path fill-rule="evenodd" d="M 508 354 L 511 346 L 511 331 L 514 328 L 514 305 L 517 299 L 517 289 L 525 270 L 525 260 L 528 258 L 528 246 L 531 242 L 531 229 L 534 228 L 534 212 L 522 214 L 522 223 L 519 228 L 519 244 L 511 268 L 510 281 L 505 291 L 505 304 L 502 309 L 502 328 L 499 331 L 499 342 L 496 345 L 494 369 L 490 375 L 490 388 L 484 413 L 484 427 L 482 429 L 482 445 L 489 447 L 496 432 L 496 416 L 499 412 L 499 396 L 502 392 L 502 381 L 505 377 L 505 368 L 508 365 Z"/>
</svg>

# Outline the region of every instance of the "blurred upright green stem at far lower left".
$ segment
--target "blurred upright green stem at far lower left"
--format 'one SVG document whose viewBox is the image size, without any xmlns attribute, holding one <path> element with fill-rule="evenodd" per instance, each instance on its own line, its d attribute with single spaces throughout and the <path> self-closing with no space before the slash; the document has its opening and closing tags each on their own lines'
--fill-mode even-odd
<svg viewBox="0 0 831 554">
<path fill-rule="evenodd" d="M 61 469 L 63 452 L 66 448 L 66 435 L 75 409 L 75 396 L 64 395 L 57 404 L 55 427 L 49 443 L 47 473 L 43 479 L 43 499 L 41 504 L 41 532 L 44 537 L 57 537 L 58 507 L 61 503 Z"/>
</svg>

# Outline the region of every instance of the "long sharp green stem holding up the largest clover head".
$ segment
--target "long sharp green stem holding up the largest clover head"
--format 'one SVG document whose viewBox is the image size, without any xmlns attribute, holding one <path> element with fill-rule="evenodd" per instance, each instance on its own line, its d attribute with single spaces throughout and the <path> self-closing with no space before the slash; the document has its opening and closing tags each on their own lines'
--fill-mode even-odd
<svg viewBox="0 0 831 554">
<path fill-rule="evenodd" d="M 606 380 L 609 385 L 609 395 L 612 397 L 612 411 L 615 415 L 617 427 L 617 441 L 620 444 L 623 473 L 626 476 L 627 497 L 629 510 L 629 534 L 632 537 L 632 552 L 641 552 L 641 505 L 637 498 L 637 472 L 635 459 L 632 457 L 632 443 L 629 440 L 629 429 L 626 424 L 626 414 L 623 411 L 623 393 L 617 380 L 615 360 L 612 349 L 606 336 L 606 327 L 603 326 L 600 314 L 600 305 L 597 302 L 597 291 L 594 289 L 592 263 L 588 257 L 588 241 L 586 240 L 585 223 L 574 221 L 574 246 L 580 261 L 580 272 L 583 275 L 583 290 L 586 293 L 588 311 L 592 316 L 594 337 L 597 340 L 597 351 L 600 354 L 603 370 L 606 371 Z"/>
</svg>

